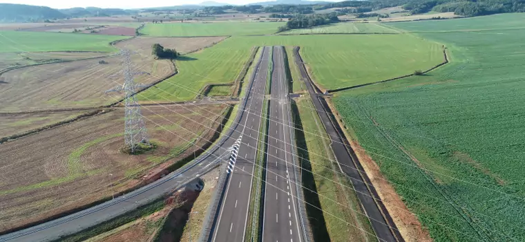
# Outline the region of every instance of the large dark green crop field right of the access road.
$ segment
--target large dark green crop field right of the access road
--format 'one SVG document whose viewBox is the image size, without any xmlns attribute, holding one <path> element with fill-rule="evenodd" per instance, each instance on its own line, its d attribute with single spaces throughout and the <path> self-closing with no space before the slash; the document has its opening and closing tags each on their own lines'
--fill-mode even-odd
<svg viewBox="0 0 525 242">
<path fill-rule="evenodd" d="M 419 34 L 445 44 L 450 64 L 334 97 L 350 133 L 435 241 L 525 241 L 525 30 L 506 28 L 521 16 L 392 24 L 452 30 Z M 504 29 L 455 31 L 481 19 Z"/>
</svg>

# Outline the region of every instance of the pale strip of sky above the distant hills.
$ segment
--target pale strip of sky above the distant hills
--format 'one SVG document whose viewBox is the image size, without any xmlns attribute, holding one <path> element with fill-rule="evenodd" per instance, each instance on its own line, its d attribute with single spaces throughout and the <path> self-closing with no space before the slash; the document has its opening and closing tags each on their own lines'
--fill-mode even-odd
<svg viewBox="0 0 525 242">
<path fill-rule="evenodd" d="M 177 6 L 186 4 L 198 4 L 208 0 L 0 0 L 0 3 L 19 3 L 36 6 L 48 6 L 50 8 L 73 8 L 73 7 L 98 7 L 98 8 L 152 8 L 163 6 Z M 217 0 L 220 3 L 247 4 L 269 0 Z"/>
</svg>

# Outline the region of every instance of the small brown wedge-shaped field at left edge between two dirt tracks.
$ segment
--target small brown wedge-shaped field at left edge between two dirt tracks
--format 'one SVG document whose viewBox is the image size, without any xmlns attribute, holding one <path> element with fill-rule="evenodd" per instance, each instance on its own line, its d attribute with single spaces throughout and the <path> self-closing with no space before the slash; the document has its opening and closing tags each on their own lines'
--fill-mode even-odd
<svg viewBox="0 0 525 242">
<path fill-rule="evenodd" d="M 50 113 L 23 113 L 0 115 L 0 138 L 38 129 L 50 124 L 75 118 L 83 111 L 63 111 Z"/>
</svg>

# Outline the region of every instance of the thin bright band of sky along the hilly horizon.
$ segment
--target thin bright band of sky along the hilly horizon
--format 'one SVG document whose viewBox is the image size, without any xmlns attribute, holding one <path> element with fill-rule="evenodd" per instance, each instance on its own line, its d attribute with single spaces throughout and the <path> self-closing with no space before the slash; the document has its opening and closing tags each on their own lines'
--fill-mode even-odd
<svg viewBox="0 0 525 242">
<path fill-rule="evenodd" d="M 16 1 L 16 2 L 15 2 Z M 229 1 L 214 1 L 218 3 L 224 3 L 225 5 L 246 5 L 250 3 L 260 3 L 266 1 L 275 0 L 229 0 Z M 316 1 L 316 0 L 303 0 L 303 1 Z M 342 0 L 322 0 L 322 1 L 342 1 Z M 12 3 L 12 4 L 26 4 L 32 6 L 46 6 L 49 8 L 64 9 L 64 8 L 122 8 L 122 9 L 137 9 L 137 8 L 161 8 L 169 6 L 184 6 L 184 5 L 199 5 L 200 3 L 207 2 L 206 0 L 176 0 L 173 3 L 171 0 L 157 0 L 155 3 L 131 3 L 130 1 L 103 1 L 103 0 L 90 0 L 90 1 L 70 1 L 63 0 L 48 0 L 46 5 L 41 3 L 41 0 L 10 0 L 1 1 L 0 3 Z"/>
</svg>

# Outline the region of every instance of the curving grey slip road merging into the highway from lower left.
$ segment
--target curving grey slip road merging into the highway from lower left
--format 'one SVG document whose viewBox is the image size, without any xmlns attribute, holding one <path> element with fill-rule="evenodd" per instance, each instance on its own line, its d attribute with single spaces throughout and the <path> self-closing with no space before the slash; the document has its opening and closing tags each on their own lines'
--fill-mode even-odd
<svg viewBox="0 0 525 242">
<path fill-rule="evenodd" d="M 265 53 L 268 53 L 268 51 L 265 51 Z M 266 66 L 268 62 L 266 61 L 265 63 L 266 64 L 263 71 L 264 73 L 267 72 Z M 249 85 L 251 85 L 252 82 L 253 80 L 251 80 Z M 264 82 L 266 82 L 266 79 L 262 83 Z M 257 88 L 261 89 L 260 84 Z M 264 93 L 264 84 L 262 84 L 261 90 L 262 93 Z M 252 93 L 254 92 L 249 91 L 247 93 L 247 97 L 251 97 L 251 95 L 253 95 Z M 258 93 L 260 93 L 260 91 L 258 91 Z M 260 97 L 262 95 L 256 96 Z M 242 131 L 243 126 L 238 124 L 244 124 L 246 118 L 248 117 L 244 111 L 244 105 L 249 105 L 250 102 L 248 101 L 250 100 L 251 99 L 246 100 L 247 102 L 241 102 L 237 116 L 231 125 L 231 128 L 225 133 L 225 136 L 223 136 L 216 143 L 216 145 L 213 145 L 213 147 L 211 147 L 207 152 L 203 153 L 197 160 L 193 160 L 188 165 L 182 167 L 182 169 L 174 171 L 168 176 L 164 176 L 164 178 L 161 178 L 154 183 L 141 187 L 140 189 L 137 189 L 128 194 L 124 194 L 123 196 L 119 196 L 106 203 L 102 203 L 95 207 L 90 207 L 86 210 L 82 210 L 62 218 L 57 218 L 53 221 L 41 223 L 40 225 L 35 225 L 34 227 L 29 227 L 25 230 L 4 234 L 0 236 L 0 241 L 32 242 L 56 240 L 61 238 L 61 236 L 74 234 L 75 232 L 79 232 L 88 227 L 93 227 L 94 225 L 108 221 L 111 218 L 115 218 L 116 216 L 120 216 L 131 210 L 135 210 L 141 205 L 151 203 L 151 201 L 155 201 L 155 199 L 160 198 L 164 194 L 171 192 L 174 189 L 178 189 L 178 187 L 182 187 L 182 185 L 185 185 L 195 177 L 213 169 L 213 167 L 216 167 L 220 162 L 227 161 L 229 155 L 227 149 L 233 145 L 233 142 L 235 142 L 236 138 L 238 138 Z M 250 112 L 257 110 L 256 113 L 260 113 L 261 105 L 261 100 L 254 102 L 254 104 L 251 105 Z M 259 108 L 255 109 L 256 106 L 259 106 Z M 249 115 L 249 119 L 252 119 L 252 122 L 248 122 L 248 125 L 254 122 L 254 118 L 256 118 L 255 115 Z M 256 125 L 257 128 L 254 129 L 258 130 L 258 122 Z M 256 135 L 256 133 L 250 133 L 250 135 Z M 254 147 L 256 145 L 253 140 L 243 140 L 243 142 L 244 141 L 249 142 L 250 145 L 253 144 Z M 242 166 L 242 162 L 241 164 L 238 162 L 238 165 Z M 249 183 L 245 184 L 245 187 L 249 187 Z M 245 207 L 246 206 L 247 204 L 245 204 Z"/>
</svg>

